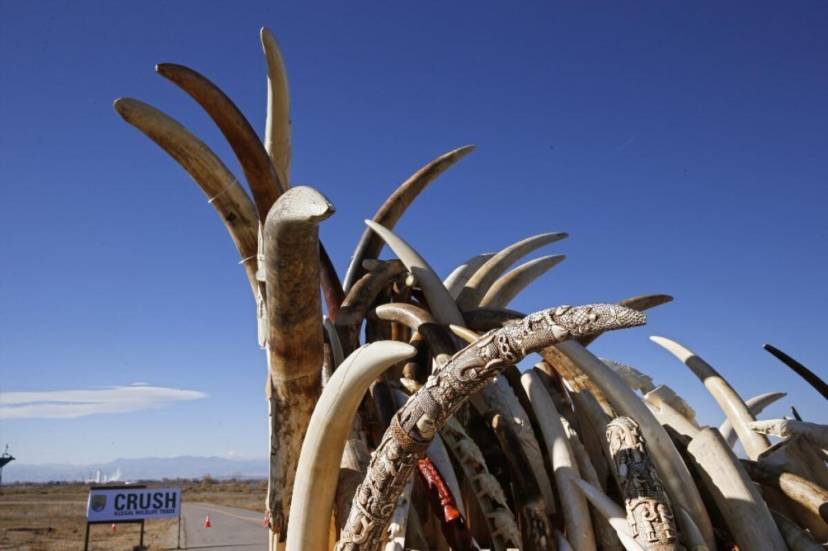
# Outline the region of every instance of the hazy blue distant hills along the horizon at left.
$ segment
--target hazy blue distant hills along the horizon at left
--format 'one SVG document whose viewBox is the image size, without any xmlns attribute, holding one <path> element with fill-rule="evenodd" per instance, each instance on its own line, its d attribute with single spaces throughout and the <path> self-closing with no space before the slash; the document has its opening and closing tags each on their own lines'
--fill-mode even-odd
<svg viewBox="0 0 828 551">
<path fill-rule="evenodd" d="M 108 463 L 70 465 L 44 463 L 27 465 L 10 462 L 3 468 L 3 482 L 71 482 L 95 477 L 100 470 L 115 480 L 161 480 L 162 478 L 200 478 L 208 475 L 216 479 L 266 478 L 267 459 L 225 459 L 183 455 L 177 458 L 116 459 Z"/>
</svg>

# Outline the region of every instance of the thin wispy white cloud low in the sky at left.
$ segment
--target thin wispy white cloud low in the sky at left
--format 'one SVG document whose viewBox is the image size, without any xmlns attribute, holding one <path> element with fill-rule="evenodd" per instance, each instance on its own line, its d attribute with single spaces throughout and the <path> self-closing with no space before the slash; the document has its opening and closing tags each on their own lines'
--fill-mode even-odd
<svg viewBox="0 0 828 551">
<path fill-rule="evenodd" d="M 206 398 L 198 390 L 133 383 L 95 390 L 0 392 L 0 419 L 71 419 L 163 407 L 165 402 Z"/>
</svg>

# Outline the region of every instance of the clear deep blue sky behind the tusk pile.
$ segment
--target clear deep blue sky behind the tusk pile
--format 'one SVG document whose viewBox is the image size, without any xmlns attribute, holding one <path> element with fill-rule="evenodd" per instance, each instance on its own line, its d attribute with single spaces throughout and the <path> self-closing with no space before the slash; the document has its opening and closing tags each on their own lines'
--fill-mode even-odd
<svg viewBox="0 0 828 551">
<path fill-rule="evenodd" d="M 536 255 L 566 261 L 513 308 L 672 294 L 595 352 L 672 386 L 703 424 L 720 410 L 648 335 L 691 347 L 744 398 L 787 391 L 767 418 L 793 404 L 828 422 L 761 349 L 828 376 L 825 2 L 4 1 L 0 390 L 167 389 L 137 410 L 0 419 L 19 461 L 265 456 L 265 359 L 233 244 L 112 108 L 161 108 L 241 179 L 213 123 L 153 67 L 207 75 L 262 132 L 262 25 L 290 76 L 292 180 L 336 205 L 321 237 L 341 273 L 363 218 L 474 143 L 396 228 L 440 275 L 570 232 Z"/>
</svg>

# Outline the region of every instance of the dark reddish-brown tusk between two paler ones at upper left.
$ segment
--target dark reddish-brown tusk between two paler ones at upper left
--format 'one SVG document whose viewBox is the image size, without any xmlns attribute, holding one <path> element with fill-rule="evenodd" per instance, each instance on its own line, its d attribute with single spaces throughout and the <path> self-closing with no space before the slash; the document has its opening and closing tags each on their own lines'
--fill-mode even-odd
<svg viewBox="0 0 828 551">
<path fill-rule="evenodd" d="M 156 65 L 156 71 L 190 94 L 190 97 L 213 119 L 242 165 L 259 220 L 267 218 L 268 211 L 284 188 L 279 181 L 276 168 L 262 146 L 262 141 L 259 141 L 248 119 L 218 86 L 193 69 L 183 65 L 161 63 Z"/>
</svg>

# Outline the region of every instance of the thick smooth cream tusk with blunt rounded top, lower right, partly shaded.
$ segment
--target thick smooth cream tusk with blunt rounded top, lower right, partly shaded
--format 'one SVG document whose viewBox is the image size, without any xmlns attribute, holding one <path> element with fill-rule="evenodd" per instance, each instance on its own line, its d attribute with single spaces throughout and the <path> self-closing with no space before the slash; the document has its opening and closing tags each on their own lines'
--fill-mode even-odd
<svg viewBox="0 0 828 551">
<path fill-rule="evenodd" d="M 739 549 L 787 549 L 768 505 L 718 430 L 701 429 L 687 452 Z"/>
</svg>

